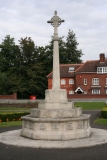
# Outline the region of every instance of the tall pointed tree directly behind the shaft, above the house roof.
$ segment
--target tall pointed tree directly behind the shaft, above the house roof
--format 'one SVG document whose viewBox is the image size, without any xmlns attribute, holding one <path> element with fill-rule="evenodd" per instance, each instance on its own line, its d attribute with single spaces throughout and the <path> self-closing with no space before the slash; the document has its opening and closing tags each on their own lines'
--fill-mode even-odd
<svg viewBox="0 0 107 160">
<path fill-rule="evenodd" d="M 62 64 L 81 63 L 82 60 L 80 58 L 83 55 L 83 53 L 82 50 L 78 50 L 79 43 L 77 42 L 73 31 L 69 30 L 66 40 L 63 39 L 64 37 L 59 38 L 60 63 Z M 48 55 L 50 55 L 52 61 L 53 38 L 51 39 L 50 44 L 46 46 L 46 52 Z"/>
</svg>

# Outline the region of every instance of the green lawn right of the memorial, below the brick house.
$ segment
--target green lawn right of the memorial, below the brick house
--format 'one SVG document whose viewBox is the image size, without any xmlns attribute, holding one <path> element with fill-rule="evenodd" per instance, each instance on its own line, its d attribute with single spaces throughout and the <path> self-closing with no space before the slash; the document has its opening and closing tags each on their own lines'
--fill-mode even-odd
<svg viewBox="0 0 107 160">
<path fill-rule="evenodd" d="M 75 107 L 81 107 L 83 110 L 95 110 L 105 107 L 105 102 L 75 102 Z"/>
</svg>

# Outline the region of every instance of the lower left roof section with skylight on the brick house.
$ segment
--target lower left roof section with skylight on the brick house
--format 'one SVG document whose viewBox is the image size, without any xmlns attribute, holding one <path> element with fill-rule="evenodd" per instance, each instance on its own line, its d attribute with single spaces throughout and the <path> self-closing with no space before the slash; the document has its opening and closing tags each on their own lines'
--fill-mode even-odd
<svg viewBox="0 0 107 160">
<path fill-rule="evenodd" d="M 74 72 L 81 66 L 82 64 L 60 64 L 60 77 L 61 78 L 69 78 L 74 77 Z M 69 71 L 69 67 L 74 67 L 74 71 Z M 52 78 L 53 72 L 47 75 L 47 78 Z"/>
</svg>

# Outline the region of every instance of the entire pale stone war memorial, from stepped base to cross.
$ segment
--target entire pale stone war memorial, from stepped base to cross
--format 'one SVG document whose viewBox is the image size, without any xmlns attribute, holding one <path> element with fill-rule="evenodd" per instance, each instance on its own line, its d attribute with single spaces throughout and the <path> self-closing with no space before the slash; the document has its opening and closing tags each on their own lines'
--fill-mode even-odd
<svg viewBox="0 0 107 160">
<path fill-rule="evenodd" d="M 38 108 L 22 117 L 21 136 L 35 140 L 64 141 L 89 137 L 91 133 L 90 115 L 82 114 L 68 102 L 66 89 L 60 88 L 59 37 L 58 26 L 64 22 L 55 11 L 50 21 L 54 27 L 53 35 L 53 87 L 45 91 L 45 100 Z"/>
</svg>

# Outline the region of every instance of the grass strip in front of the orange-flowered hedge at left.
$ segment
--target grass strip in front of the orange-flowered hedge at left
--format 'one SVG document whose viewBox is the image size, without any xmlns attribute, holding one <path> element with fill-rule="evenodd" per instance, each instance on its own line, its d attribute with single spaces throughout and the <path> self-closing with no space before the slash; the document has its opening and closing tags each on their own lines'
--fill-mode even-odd
<svg viewBox="0 0 107 160">
<path fill-rule="evenodd" d="M 0 128 L 21 126 L 22 121 L 0 122 Z"/>
</svg>

